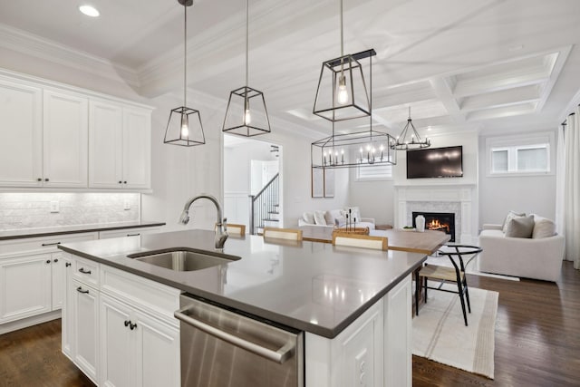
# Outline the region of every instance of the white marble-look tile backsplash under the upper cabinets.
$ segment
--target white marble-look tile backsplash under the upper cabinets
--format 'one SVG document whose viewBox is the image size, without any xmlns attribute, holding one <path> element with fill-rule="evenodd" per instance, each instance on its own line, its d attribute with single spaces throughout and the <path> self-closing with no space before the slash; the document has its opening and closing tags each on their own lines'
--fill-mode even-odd
<svg viewBox="0 0 580 387">
<path fill-rule="evenodd" d="M 0 231 L 130 222 L 139 215 L 138 193 L 0 193 Z"/>
</svg>

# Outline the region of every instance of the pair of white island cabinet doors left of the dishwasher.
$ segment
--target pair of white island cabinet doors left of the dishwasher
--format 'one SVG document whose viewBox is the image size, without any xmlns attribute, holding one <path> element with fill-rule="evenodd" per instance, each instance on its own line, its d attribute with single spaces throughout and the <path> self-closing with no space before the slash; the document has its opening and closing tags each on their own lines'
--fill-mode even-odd
<svg viewBox="0 0 580 387">
<path fill-rule="evenodd" d="M 101 334 L 100 385 L 179 386 L 179 329 L 102 295 Z"/>
</svg>

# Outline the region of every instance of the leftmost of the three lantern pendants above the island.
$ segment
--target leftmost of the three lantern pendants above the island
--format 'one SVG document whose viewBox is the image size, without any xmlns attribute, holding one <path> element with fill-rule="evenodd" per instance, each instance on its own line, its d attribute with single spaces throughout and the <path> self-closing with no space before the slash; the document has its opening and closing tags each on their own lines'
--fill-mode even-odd
<svg viewBox="0 0 580 387">
<path fill-rule="evenodd" d="M 193 0 L 178 0 L 183 5 L 184 29 L 183 29 L 183 106 L 172 109 L 169 113 L 169 121 L 165 130 L 166 144 L 193 147 L 206 143 L 206 137 L 201 125 L 199 111 L 188 108 L 188 7 L 193 5 Z"/>
</svg>

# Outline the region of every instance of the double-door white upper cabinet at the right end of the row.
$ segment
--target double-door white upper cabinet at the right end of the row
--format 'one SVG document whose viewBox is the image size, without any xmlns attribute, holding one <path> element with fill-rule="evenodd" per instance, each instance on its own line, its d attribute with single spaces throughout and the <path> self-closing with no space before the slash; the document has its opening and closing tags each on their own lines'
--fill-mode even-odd
<svg viewBox="0 0 580 387">
<path fill-rule="evenodd" d="M 91 101 L 89 187 L 149 189 L 150 131 L 150 110 Z"/>
</svg>

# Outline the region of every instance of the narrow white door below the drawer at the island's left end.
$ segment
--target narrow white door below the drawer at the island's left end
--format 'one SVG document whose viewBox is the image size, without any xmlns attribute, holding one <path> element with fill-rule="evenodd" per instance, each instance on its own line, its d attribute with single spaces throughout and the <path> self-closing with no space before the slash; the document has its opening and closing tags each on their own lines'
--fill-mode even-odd
<svg viewBox="0 0 580 387">
<path fill-rule="evenodd" d="M 73 279 L 73 360 L 92 382 L 98 383 L 99 292 Z"/>
</svg>

